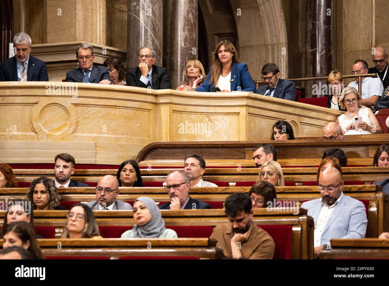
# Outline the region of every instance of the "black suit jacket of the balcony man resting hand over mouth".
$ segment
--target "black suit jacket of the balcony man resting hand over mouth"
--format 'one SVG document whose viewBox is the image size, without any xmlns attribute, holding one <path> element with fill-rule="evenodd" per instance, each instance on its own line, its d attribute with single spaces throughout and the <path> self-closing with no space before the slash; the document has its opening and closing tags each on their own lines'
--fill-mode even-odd
<svg viewBox="0 0 389 286">
<path fill-rule="evenodd" d="M 152 79 L 151 84 L 153 89 L 166 89 L 170 88 L 168 70 L 158 65 L 152 65 Z M 140 80 L 139 67 L 127 69 L 126 83 L 128 86 L 137 86 L 138 88 L 147 88 L 147 85 Z"/>
</svg>

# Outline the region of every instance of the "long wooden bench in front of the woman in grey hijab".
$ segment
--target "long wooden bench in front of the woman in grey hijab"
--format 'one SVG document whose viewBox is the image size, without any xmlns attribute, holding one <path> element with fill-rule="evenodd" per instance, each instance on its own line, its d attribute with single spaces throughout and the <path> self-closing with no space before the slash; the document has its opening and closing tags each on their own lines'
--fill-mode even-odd
<svg viewBox="0 0 389 286">
<path fill-rule="evenodd" d="M 38 239 L 44 256 L 191 256 L 221 259 L 214 239 Z M 0 242 L 3 246 L 3 242 Z M 60 246 L 60 247 L 59 247 Z"/>
</svg>

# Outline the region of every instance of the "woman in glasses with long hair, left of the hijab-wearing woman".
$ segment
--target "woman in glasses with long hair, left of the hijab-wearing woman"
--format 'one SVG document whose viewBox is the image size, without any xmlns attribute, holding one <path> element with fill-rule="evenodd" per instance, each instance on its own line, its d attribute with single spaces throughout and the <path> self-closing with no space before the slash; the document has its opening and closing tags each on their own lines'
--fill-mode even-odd
<svg viewBox="0 0 389 286">
<path fill-rule="evenodd" d="M 66 217 L 62 238 L 102 238 L 93 211 L 87 205 L 74 204 Z"/>
</svg>

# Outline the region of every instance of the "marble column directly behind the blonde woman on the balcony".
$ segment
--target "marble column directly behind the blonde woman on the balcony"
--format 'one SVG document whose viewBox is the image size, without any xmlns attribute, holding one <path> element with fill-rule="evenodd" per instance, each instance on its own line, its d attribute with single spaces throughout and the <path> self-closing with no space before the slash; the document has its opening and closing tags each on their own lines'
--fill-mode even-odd
<svg viewBox="0 0 389 286">
<path fill-rule="evenodd" d="M 170 87 L 184 82 L 184 68 L 188 60 L 197 59 L 198 0 L 164 0 L 163 65 L 169 70 Z"/>
</svg>

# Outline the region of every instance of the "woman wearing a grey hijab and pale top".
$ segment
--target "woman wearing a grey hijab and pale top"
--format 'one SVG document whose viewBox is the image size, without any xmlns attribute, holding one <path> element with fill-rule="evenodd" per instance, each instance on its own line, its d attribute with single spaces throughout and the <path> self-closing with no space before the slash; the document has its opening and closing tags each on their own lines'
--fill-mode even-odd
<svg viewBox="0 0 389 286">
<path fill-rule="evenodd" d="M 132 211 L 135 225 L 132 230 L 124 232 L 121 238 L 177 238 L 174 230 L 165 227 L 161 211 L 151 198 L 137 198 Z"/>
</svg>

